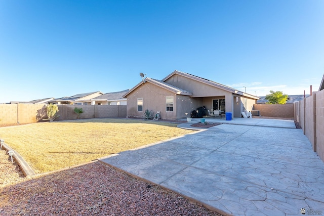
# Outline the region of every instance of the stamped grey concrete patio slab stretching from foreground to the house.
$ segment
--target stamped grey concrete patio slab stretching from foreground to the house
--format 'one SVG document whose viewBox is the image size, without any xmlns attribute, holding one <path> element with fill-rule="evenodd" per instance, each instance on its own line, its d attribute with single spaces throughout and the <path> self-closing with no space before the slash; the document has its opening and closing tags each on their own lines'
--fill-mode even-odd
<svg viewBox="0 0 324 216">
<path fill-rule="evenodd" d="M 294 121 L 214 120 L 100 160 L 225 215 L 324 215 L 324 163 Z"/>
</svg>

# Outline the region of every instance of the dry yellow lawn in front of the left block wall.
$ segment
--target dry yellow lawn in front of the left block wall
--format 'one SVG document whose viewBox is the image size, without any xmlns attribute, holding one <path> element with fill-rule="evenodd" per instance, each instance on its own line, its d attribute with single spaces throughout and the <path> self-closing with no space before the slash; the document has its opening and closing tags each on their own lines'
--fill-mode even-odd
<svg viewBox="0 0 324 216">
<path fill-rule="evenodd" d="M 84 119 L 0 128 L 0 138 L 36 174 L 189 133 L 175 123 L 135 119 Z"/>
</svg>

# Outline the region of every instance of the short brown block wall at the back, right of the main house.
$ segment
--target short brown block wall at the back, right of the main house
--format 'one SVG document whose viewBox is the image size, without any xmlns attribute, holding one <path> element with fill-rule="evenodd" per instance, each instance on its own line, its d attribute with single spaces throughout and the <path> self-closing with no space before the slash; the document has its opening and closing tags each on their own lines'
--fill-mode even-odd
<svg viewBox="0 0 324 216">
<path fill-rule="evenodd" d="M 294 104 L 254 104 L 253 110 L 259 110 L 261 116 L 294 117 Z"/>
</svg>

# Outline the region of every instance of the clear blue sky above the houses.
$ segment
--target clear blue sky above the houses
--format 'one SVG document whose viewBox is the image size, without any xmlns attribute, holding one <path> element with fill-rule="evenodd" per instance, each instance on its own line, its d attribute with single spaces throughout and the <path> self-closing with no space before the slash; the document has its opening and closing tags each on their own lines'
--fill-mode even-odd
<svg viewBox="0 0 324 216">
<path fill-rule="evenodd" d="M 174 70 L 257 96 L 317 91 L 324 1 L 0 1 L 0 102 L 117 92 Z"/>
</svg>

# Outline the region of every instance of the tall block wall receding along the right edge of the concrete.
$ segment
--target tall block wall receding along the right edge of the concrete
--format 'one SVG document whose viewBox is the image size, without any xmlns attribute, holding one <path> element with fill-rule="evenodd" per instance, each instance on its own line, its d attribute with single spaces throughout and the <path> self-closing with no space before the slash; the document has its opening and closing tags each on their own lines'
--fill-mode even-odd
<svg viewBox="0 0 324 216">
<path fill-rule="evenodd" d="M 324 90 L 294 104 L 295 120 L 312 144 L 313 151 L 324 161 Z"/>
</svg>

